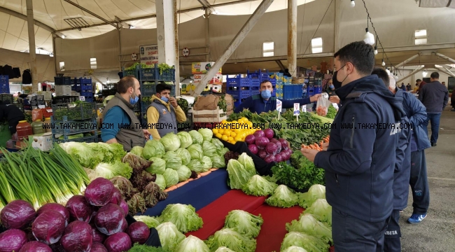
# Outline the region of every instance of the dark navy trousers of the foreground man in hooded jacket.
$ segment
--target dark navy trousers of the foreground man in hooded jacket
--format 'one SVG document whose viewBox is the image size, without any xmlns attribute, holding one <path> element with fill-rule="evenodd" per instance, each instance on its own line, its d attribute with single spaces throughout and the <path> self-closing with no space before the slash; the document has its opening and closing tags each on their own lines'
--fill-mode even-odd
<svg viewBox="0 0 455 252">
<path fill-rule="evenodd" d="M 335 252 L 382 252 L 389 218 L 371 223 L 332 208 Z"/>
</svg>

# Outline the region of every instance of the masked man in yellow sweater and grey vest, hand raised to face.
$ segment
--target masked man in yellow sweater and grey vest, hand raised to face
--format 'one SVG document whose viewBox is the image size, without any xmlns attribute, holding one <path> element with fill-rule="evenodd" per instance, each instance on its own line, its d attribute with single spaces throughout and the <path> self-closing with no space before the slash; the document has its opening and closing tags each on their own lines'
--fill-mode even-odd
<svg viewBox="0 0 455 252">
<path fill-rule="evenodd" d="M 169 85 L 164 83 L 156 85 L 156 94 L 152 96 L 152 104 L 147 109 L 148 132 L 152 134 L 153 139 L 160 140 L 169 132 L 177 134 L 177 122 L 186 121 L 185 112 L 170 95 Z"/>
</svg>

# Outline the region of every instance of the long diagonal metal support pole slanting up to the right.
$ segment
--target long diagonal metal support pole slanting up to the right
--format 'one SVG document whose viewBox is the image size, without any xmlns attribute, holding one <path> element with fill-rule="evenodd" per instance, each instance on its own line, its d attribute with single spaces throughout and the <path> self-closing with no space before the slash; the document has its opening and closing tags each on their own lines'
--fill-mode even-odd
<svg viewBox="0 0 455 252">
<path fill-rule="evenodd" d="M 269 8 L 269 6 L 273 3 L 274 0 L 262 0 L 258 8 L 254 11 L 253 15 L 248 18 L 248 21 L 246 21 L 245 25 L 241 27 L 240 31 L 235 35 L 235 38 L 232 39 L 230 44 L 228 45 L 228 48 L 223 52 L 223 55 L 215 62 L 213 66 L 211 66 L 211 69 L 207 74 L 202 78 L 201 80 L 201 85 L 197 85 L 196 89 L 194 92 L 192 92 L 191 95 L 193 97 L 197 97 L 202 90 L 204 90 L 205 85 L 204 83 L 208 83 L 211 78 L 214 78 L 215 74 L 218 72 L 219 69 L 225 64 L 226 61 L 228 61 L 229 57 L 232 55 L 232 52 L 234 52 L 237 47 L 239 47 L 241 41 L 244 40 L 246 35 L 253 29 L 254 25 L 258 20 L 262 17 L 262 15 L 265 13 L 265 10 Z"/>
</svg>

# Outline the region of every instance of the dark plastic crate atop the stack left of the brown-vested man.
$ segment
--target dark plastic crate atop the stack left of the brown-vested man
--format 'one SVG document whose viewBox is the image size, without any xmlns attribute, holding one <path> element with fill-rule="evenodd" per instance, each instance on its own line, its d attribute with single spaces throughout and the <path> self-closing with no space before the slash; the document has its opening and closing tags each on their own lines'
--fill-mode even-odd
<svg viewBox="0 0 455 252">
<path fill-rule="evenodd" d="M 97 118 L 96 104 L 92 102 L 81 102 L 73 106 L 73 104 L 52 104 L 52 113 L 55 120 L 87 120 Z"/>
</svg>

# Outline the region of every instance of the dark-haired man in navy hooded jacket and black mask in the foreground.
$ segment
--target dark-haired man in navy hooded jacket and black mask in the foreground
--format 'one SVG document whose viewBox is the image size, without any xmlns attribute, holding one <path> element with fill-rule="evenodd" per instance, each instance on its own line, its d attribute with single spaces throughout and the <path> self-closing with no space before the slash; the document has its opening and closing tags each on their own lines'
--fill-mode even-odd
<svg viewBox="0 0 455 252">
<path fill-rule="evenodd" d="M 332 206 L 332 238 L 337 252 L 383 251 L 393 209 L 397 125 L 402 99 L 371 75 L 374 49 L 353 42 L 335 53 L 335 92 L 343 106 L 330 131 L 327 151 L 302 154 L 325 170 L 325 197 Z"/>
</svg>

